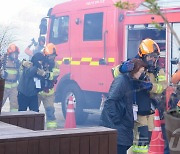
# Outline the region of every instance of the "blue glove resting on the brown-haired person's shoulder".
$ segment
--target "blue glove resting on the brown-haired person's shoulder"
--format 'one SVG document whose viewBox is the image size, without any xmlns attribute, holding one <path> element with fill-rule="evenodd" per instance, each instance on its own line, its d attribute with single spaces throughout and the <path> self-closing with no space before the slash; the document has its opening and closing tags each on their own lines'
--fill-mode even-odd
<svg viewBox="0 0 180 154">
<path fill-rule="evenodd" d="M 134 69 L 134 63 L 131 60 L 125 61 L 119 67 L 121 73 L 127 73 Z"/>
</svg>

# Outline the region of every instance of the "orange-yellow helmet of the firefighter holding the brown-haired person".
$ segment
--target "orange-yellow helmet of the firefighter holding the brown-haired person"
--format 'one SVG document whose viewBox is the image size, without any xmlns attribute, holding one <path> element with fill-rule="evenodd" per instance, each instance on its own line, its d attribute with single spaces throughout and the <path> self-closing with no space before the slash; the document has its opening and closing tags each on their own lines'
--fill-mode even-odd
<svg viewBox="0 0 180 154">
<path fill-rule="evenodd" d="M 139 51 L 138 54 L 140 57 L 143 57 L 143 55 L 151 54 L 151 53 L 157 53 L 160 54 L 159 46 L 155 41 L 152 39 L 145 39 L 141 42 L 139 45 Z"/>
</svg>

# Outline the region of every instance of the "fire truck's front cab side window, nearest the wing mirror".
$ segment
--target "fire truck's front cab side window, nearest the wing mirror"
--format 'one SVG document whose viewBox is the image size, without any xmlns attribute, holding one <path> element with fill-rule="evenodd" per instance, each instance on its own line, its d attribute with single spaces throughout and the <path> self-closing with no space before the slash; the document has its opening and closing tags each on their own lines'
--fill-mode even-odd
<svg viewBox="0 0 180 154">
<path fill-rule="evenodd" d="M 61 44 L 68 41 L 69 16 L 61 16 L 52 20 L 50 42 Z"/>
</svg>

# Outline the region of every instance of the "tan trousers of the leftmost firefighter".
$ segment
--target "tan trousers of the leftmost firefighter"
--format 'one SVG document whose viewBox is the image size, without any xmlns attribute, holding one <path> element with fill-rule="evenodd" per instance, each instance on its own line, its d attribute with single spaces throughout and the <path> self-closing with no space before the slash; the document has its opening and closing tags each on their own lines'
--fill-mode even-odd
<svg viewBox="0 0 180 154">
<path fill-rule="evenodd" d="M 9 98 L 10 111 L 18 111 L 17 95 L 18 95 L 17 87 L 4 89 L 3 105 L 5 104 L 6 100 Z"/>
</svg>

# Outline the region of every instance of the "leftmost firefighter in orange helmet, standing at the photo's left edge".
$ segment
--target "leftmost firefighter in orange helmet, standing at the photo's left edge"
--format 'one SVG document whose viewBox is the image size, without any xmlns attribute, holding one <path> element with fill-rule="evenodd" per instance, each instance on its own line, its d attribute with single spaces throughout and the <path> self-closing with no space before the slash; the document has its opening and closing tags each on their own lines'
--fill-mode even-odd
<svg viewBox="0 0 180 154">
<path fill-rule="evenodd" d="M 18 111 L 17 85 L 20 68 L 18 55 L 19 48 L 15 44 L 9 45 L 7 53 L 4 55 L 3 78 L 5 79 L 5 90 L 3 104 L 9 98 L 10 111 Z"/>
</svg>

